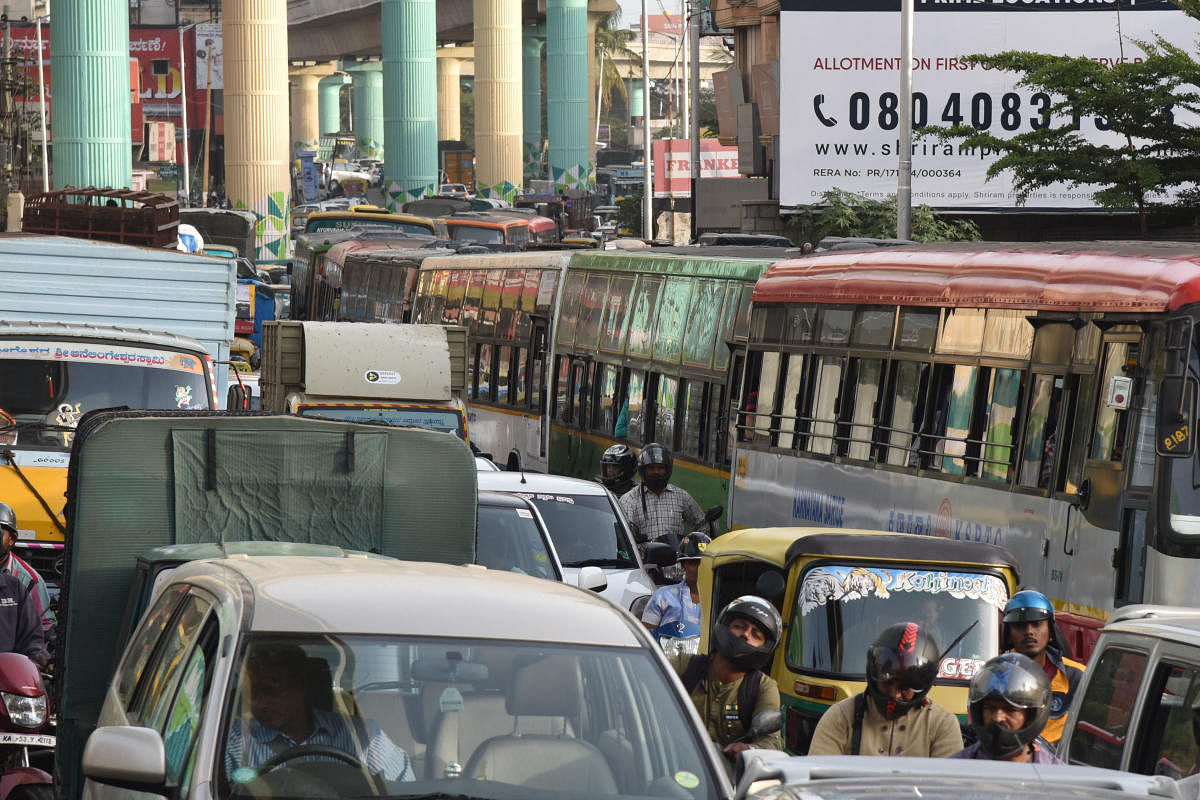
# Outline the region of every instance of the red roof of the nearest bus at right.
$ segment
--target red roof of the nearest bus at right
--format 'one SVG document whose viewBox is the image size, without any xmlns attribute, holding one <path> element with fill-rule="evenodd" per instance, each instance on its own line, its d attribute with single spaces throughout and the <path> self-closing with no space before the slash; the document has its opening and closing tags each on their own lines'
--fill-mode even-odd
<svg viewBox="0 0 1200 800">
<path fill-rule="evenodd" d="M 1193 242 L 946 242 L 790 259 L 751 300 L 1162 312 L 1200 301 Z"/>
</svg>

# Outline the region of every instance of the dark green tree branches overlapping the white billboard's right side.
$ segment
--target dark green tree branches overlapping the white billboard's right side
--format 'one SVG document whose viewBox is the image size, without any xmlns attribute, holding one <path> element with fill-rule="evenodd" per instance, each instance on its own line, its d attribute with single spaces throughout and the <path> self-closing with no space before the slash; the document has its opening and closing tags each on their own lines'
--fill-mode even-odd
<svg viewBox="0 0 1200 800">
<path fill-rule="evenodd" d="M 1200 0 L 1172 1 L 1200 19 Z M 1010 172 L 1020 203 L 1052 184 L 1100 186 L 1096 203 L 1135 207 L 1145 235 L 1153 198 L 1200 179 L 1200 130 L 1176 121 L 1180 109 L 1200 110 L 1200 64 L 1160 36 L 1134 43 L 1145 58 L 1111 66 L 1025 50 L 968 55 L 972 65 L 1021 73 L 1019 85 L 1044 92 L 1050 98 L 1044 127 L 1007 139 L 965 125 L 926 128 L 925 134 L 1000 152 L 988 178 Z M 1082 118 L 1116 136 L 1105 143 L 1087 140 L 1079 134 Z"/>
</svg>

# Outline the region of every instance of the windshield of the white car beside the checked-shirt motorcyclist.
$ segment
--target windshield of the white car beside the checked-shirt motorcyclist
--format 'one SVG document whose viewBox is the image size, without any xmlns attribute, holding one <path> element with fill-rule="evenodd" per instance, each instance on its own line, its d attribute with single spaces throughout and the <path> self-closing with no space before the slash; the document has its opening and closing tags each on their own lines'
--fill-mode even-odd
<svg viewBox="0 0 1200 800">
<path fill-rule="evenodd" d="M 636 570 L 634 546 L 602 494 L 521 493 L 546 521 L 563 566 L 608 566 Z"/>
</svg>

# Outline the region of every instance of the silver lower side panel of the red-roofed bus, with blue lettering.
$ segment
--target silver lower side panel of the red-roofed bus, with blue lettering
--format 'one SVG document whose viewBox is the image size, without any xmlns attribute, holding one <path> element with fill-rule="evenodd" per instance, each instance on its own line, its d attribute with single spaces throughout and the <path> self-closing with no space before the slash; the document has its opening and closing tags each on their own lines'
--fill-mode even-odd
<svg viewBox="0 0 1200 800">
<path fill-rule="evenodd" d="M 734 528 L 888 530 L 998 545 L 1016 557 L 1022 584 L 1075 613 L 1112 609 L 1118 535 L 1061 500 L 756 450 L 738 450 L 734 470 Z M 1200 604 L 1200 585 L 1181 588 L 1175 602 Z"/>
</svg>

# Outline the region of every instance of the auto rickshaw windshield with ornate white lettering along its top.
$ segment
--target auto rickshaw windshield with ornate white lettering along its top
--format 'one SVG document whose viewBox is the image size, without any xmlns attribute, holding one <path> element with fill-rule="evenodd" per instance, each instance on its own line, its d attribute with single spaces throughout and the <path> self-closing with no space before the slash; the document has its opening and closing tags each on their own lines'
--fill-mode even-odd
<svg viewBox="0 0 1200 800">
<path fill-rule="evenodd" d="M 792 609 L 799 625 L 788 632 L 787 663 L 862 679 L 866 649 L 878 632 L 913 621 L 925 625 L 941 649 L 949 648 L 938 678 L 966 682 L 998 655 L 1000 612 L 1007 601 L 1004 582 L 986 572 L 818 564 L 800 579 Z"/>
</svg>

